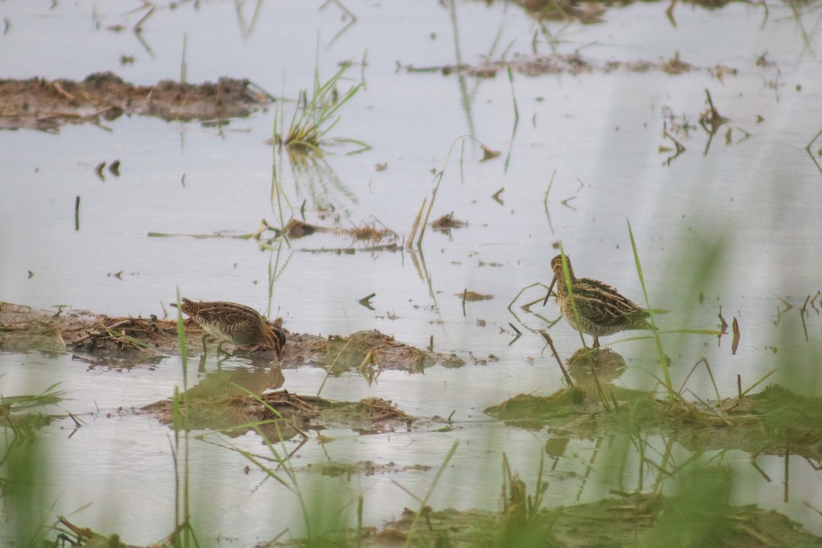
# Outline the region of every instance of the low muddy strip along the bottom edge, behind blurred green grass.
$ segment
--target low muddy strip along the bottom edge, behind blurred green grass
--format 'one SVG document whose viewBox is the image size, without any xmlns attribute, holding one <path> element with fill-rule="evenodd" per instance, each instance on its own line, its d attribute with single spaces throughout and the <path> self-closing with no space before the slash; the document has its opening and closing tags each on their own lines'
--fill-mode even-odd
<svg viewBox="0 0 822 548">
<path fill-rule="evenodd" d="M 427 508 L 419 518 L 406 509 L 381 530 L 369 530 L 358 546 L 401 546 L 409 536 L 411 546 L 670 546 L 661 542 L 660 527 L 679 509 L 679 502 L 677 497 L 633 494 L 533 515 L 524 515 L 525 504 L 519 509 L 510 504 L 509 511 L 501 513 Z M 717 519 L 727 523 L 725 534 L 690 546 L 819 546 L 818 537 L 778 513 L 729 504 L 721 504 L 721 510 Z M 699 523 L 699 513 L 691 512 L 683 520 Z M 354 534 L 349 532 L 349 542 L 355 540 Z M 695 536 L 699 538 L 698 533 Z"/>
</svg>

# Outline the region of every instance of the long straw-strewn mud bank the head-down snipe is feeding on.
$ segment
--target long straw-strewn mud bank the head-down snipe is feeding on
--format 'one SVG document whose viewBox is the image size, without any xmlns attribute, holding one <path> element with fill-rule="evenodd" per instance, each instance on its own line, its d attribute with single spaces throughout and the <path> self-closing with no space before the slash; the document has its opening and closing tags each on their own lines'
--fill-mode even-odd
<svg viewBox="0 0 822 548">
<path fill-rule="evenodd" d="M 173 309 L 158 311 L 159 315 L 167 312 L 173 314 Z M 188 355 L 201 354 L 205 331 L 191 319 L 184 320 L 183 326 Z M 436 364 L 464 365 L 464 361 L 453 354 L 414 348 L 376 330 L 325 338 L 292 334 L 287 330 L 286 334 L 282 366 L 333 364 L 332 375 L 354 368 L 376 374 L 385 369 L 421 372 Z M 110 317 L 90 311 L 54 312 L 0 302 L 0 348 L 6 352 L 78 352 L 77 359 L 89 361 L 93 366 L 124 367 L 156 363 L 176 355 L 180 352 L 180 343 L 177 321 L 161 320 L 158 315 Z M 210 345 L 211 357 L 214 349 L 215 345 Z M 270 365 L 274 359 L 273 352 L 266 350 L 245 352 L 228 344 L 224 349 L 260 365 Z"/>
</svg>

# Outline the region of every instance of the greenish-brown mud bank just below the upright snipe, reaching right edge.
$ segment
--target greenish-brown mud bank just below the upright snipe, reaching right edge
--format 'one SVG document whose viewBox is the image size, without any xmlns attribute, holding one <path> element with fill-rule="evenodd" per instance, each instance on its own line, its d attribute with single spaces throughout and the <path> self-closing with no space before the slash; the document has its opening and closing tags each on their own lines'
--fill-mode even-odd
<svg viewBox="0 0 822 548">
<path fill-rule="evenodd" d="M 520 394 L 485 409 L 509 426 L 547 428 L 557 436 L 588 438 L 614 432 L 662 435 L 695 452 L 741 449 L 751 455 L 799 455 L 822 467 L 822 398 L 793 394 L 778 385 L 721 402 L 690 403 L 634 394 L 607 407 L 580 389 L 548 397 Z"/>
</svg>

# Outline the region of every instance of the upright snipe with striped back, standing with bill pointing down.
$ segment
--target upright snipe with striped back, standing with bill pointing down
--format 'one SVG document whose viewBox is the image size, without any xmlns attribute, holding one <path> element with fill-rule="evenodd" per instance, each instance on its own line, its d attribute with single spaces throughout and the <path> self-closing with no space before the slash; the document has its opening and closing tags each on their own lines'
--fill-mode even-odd
<svg viewBox="0 0 822 548">
<path fill-rule="evenodd" d="M 593 348 L 598 348 L 599 338 L 615 334 L 626 329 L 654 329 L 645 318 L 650 313 L 642 306 L 620 295 L 610 285 L 590 278 L 577 278 L 574 269 L 570 266 L 570 259 L 566 255 L 570 289 L 574 294 L 574 306 L 571 304 L 565 274 L 562 272 L 562 256 L 557 255 L 551 260 L 551 269 L 554 278 L 548 288 L 548 297 L 556 283 L 556 301 L 560 311 L 574 329 L 593 336 Z M 548 297 L 545 297 L 547 302 Z M 544 303 L 543 303 L 544 304 Z M 579 318 L 577 325 L 576 318 Z"/>
</svg>

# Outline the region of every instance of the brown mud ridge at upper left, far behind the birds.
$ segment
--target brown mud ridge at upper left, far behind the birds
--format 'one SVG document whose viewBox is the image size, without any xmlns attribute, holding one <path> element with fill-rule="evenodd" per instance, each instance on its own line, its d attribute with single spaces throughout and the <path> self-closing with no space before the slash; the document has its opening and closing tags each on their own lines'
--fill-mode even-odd
<svg viewBox="0 0 822 548">
<path fill-rule="evenodd" d="M 96 72 L 83 81 L 2 80 L 0 129 L 58 131 L 64 124 L 101 123 L 123 114 L 216 121 L 248 116 L 270 103 L 264 91 L 233 78 L 196 85 L 169 80 L 133 85 L 111 72 Z"/>
</svg>

